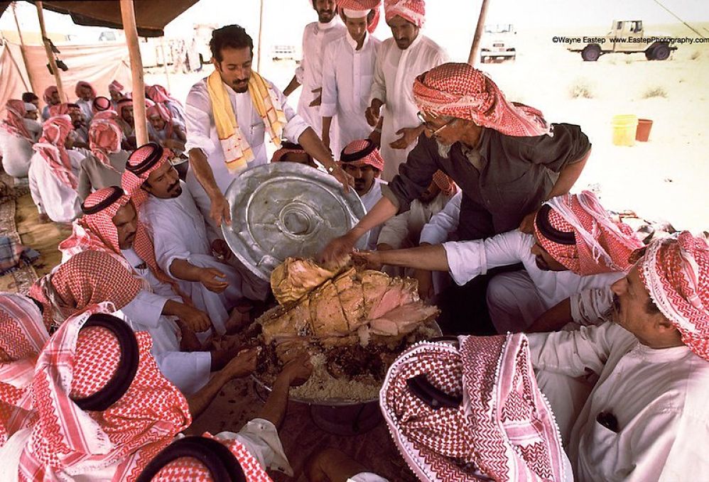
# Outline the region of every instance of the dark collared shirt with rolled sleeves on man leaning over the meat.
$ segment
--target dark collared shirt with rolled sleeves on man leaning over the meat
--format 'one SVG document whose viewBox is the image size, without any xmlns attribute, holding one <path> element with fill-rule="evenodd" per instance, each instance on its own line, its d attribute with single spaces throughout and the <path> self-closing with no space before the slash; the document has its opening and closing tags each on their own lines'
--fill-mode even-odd
<svg viewBox="0 0 709 482">
<path fill-rule="evenodd" d="M 484 128 L 477 167 L 460 143 L 453 144 L 448 158 L 442 158 L 435 140 L 422 134 L 382 194 L 398 204 L 399 213 L 406 212 L 440 169 L 462 190 L 459 239 L 483 239 L 511 231 L 526 214 L 538 209 L 559 172 L 580 161 L 591 148 L 579 126 L 552 126 L 553 136 L 533 137 L 506 136 Z"/>
</svg>

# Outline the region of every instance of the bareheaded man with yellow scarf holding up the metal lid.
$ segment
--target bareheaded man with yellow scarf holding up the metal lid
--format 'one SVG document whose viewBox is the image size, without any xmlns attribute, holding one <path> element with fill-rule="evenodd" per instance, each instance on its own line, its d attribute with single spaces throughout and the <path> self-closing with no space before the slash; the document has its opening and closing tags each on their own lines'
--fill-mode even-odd
<svg viewBox="0 0 709 482">
<path fill-rule="evenodd" d="M 352 177 L 335 163 L 313 128 L 288 106 L 274 84 L 251 70 L 254 42 L 244 28 L 229 25 L 215 30 L 210 48 L 215 71 L 190 89 L 185 145 L 191 167 L 186 184 L 209 224 L 210 236 L 222 237 L 222 222 L 231 222 L 224 197 L 227 187 L 244 169 L 268 162 L 266 138 L 278 147 L 281 136 L 300 144 L 347 190 Z M 253 295 L 263 299 L 267 283 L 236 259 L 232 263 Z"/>
</svg>

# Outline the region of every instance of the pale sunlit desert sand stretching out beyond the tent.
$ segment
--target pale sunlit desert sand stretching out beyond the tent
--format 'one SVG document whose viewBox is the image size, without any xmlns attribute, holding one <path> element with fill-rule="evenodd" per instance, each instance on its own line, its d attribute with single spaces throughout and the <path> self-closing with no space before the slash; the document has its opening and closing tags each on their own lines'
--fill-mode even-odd
<svg viewBox="0 0 709 482">
<path fill-rule="evenodd" d="M 709 24 L 693 24 L 705 36 Z M 680 23 L 653 26 L 676 36 L 698 35 Z M 590 189 L 608 209 L 632 209 L 639 216 L 670 221 L 676 229 L 698 234 L 709 229 L 709 156 L 704 144 L 709 135 L 709 43 L 679 45 L 669 60 L 648 61 L 642 53 L 602 55 L 583 62 L 553 43 L 553 35 L 597 35 L 607 26 L 575 31 L 521 31 L 517 59 L 477 65 L 497 82 L 510 100 L 543 111 L 551 122 L 579 124 L 593 150 L 573 192 Z M 378 33 L 381 29 L 378 29 Z M 470 45 L 460 40 L 432 38 L 448 49 L 451 60 L 465 62 Z M 384 35 L 380 35 L 381 38 Z M 293 76 L 296 62 L 273 62 L 264 56 L 261 73 L 278 87 Z M 190 86 L 212 71 L 171 75 L 171 89 L 184 99 Z M 146 83 L 165 84 L 157 70 Z M 572 91 L 585 92 L 574 97 Z M 291 105 L 298 104 L 298 89 Z M 632 147 L 612 144 L 611 119 L 634 114 L 654 122 L 648 142 Z"/>
</svg>

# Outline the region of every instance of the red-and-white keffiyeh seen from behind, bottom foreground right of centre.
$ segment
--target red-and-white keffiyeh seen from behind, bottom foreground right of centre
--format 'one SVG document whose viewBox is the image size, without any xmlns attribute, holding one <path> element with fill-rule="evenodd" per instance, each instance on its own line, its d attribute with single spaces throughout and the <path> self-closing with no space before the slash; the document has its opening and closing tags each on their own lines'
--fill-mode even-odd
<svg viewBox="0 0 709 482">
<path fill-rule="evenodd" d="M 536 385 L 524 334 L 421 343 L 389 368 L 379 394 L 396 446 L 422 481 L 562 481 L 561 437 Z M 434 410 L 407 380 L 426 374 L 459 407 Z"/>
</svg>

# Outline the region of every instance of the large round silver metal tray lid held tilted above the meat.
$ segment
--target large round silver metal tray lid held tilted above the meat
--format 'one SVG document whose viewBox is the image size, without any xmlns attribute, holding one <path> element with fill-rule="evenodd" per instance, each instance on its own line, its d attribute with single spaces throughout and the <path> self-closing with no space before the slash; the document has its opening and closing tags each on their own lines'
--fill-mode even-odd
<svg viewBox="0 0 709 482">
<path fill-rule="evenodd" d="M 254 274 L 271 271 L 288 258 L 316 256 L 327 243 L 352 229 L 364 205 L 331 175 L 297 163 L 258 165 L 242 172 L 226 192 L 232 224 L 224 239 Z M 357 243 L 364 248 L 367 236 Z"/>
</svg>

